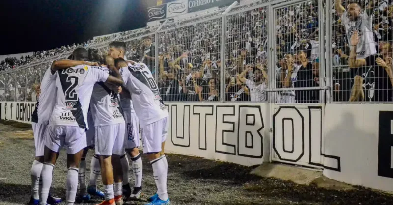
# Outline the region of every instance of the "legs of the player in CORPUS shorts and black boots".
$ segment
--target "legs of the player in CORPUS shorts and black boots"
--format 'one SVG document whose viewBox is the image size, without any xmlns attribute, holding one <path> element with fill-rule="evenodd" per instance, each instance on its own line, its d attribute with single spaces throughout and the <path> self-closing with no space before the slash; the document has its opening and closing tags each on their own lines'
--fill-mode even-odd
<svg viewBox="0 0 393 205">
<path fill-rule="evenodd" d="M 123 166 L 123 194 L 126 198 L 140 199 L 142 195 L 142 174 L 143 164 L 140 157 L 139 149 L 139 126 L 137 115 L 132 113 L 125 114 L 126 129 L 125 129 L 125 148 L 126 153 L 130 155 L 131 166 L 134 175 L 134 188 L 131 192 L 130 185 L 128 183 L 128 159 L 122 158 Z"/>
</svg>

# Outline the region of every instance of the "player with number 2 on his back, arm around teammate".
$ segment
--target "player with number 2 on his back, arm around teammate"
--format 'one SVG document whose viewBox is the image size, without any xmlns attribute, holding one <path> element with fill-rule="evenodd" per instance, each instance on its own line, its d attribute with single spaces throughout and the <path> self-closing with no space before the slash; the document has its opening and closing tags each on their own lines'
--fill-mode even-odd
<svg viewBox="0 0 393 205">
<path fill-rule="evenodd" d="M 73 60 L 88 59 L 88 51 L 78 48 L 73 51 Z M 41 179 L 42 189 L 40 204 L 46 205 L 49 188 L 52 184 L 52 172 L 55 167 L 60 148 L 67 150 L 67 205 L 73 205 L 78 188 L 78 168 L 87 146 L 86 117 L 93 86 L 96 82 L 107 82 L 122 85 L 123 80 L 113 69 L 116 77 L 110 76 L 97 67 L 79 65 L 57 72 L 57 97 L 49 127 L 45 136 L 44 165 Z M 106 187 L 107 188 L 107 187 Z M 109 188 L 109 187 L 108 187 Z"/>
</svg>

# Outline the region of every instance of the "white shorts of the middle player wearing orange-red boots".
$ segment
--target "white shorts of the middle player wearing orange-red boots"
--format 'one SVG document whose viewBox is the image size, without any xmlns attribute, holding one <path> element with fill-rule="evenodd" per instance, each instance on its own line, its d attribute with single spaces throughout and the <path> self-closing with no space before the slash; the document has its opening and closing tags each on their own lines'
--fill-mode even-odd
<svg viewBox="0 0 393 205">
<path fill-rule="evenodd" d="M 94 154 L 104 156 L 124 154 L 124 131 L 125 123 L 97 126 Z"/>
</svg>

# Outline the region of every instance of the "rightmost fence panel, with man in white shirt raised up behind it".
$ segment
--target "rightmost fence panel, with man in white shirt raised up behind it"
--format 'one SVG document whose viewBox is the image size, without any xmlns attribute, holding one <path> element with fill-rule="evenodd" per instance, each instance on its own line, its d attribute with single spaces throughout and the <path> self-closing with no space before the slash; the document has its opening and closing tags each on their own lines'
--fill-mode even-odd
<svg viewBox="0 0 393 205">
<path fill-rule="evenodd" d="M 393 5 L 332 2 L 334 102 L 393 102 Z"/>
</svg>

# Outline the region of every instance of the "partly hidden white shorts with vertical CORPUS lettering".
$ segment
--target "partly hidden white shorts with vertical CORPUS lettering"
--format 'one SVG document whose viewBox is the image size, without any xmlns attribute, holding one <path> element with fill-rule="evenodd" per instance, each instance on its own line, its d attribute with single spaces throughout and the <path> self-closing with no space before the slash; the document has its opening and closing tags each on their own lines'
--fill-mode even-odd
<svg viewBox="0 0 393 205">
<path fill-rule="evenodd" d="M 135 112 L 124 112 L 126 121 L 124 146 L 125 149 L 139 147 L 139 121 Z"/>
</svg>

